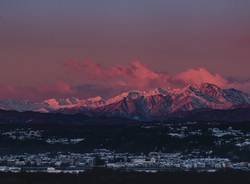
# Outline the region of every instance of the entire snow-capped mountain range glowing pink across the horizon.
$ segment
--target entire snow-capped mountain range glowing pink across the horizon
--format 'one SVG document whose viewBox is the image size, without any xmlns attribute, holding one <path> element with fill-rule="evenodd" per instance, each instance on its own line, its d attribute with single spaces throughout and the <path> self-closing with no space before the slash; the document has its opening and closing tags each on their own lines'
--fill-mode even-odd
<svg viewBox="0 0 250 184">
<path fill-rule="evenodd" d="M 97 96 L 89 99 L 48 99 L 42 102 L 0 101 L 0 109 L 5 111 L 84 114 L 138 120 L 167 119 L 204 110 L 211 112 L 248 107 L 249 94 L 232 88 L 223 89 L 211 83 L 188 85 L 181 89 L 134 90 L 109 99 Z"/>
</svg>

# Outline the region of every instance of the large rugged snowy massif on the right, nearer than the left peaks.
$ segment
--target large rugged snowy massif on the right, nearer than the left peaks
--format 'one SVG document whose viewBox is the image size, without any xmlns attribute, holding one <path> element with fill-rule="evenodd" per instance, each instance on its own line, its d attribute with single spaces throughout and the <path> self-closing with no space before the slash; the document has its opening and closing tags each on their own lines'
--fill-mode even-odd
<svg viewBox="0 0 250 184">
<path fill-rule="evenodd" d="M 109 99 L 108 102 L 112 103 L 97 110 L 115 116 L 148 118 L 197 109 L 230 109 L 250 105 L 248 94 L 208 83 L 189 85 L 181 90 L 163 91 L 124 93 Z"/>
</svg>

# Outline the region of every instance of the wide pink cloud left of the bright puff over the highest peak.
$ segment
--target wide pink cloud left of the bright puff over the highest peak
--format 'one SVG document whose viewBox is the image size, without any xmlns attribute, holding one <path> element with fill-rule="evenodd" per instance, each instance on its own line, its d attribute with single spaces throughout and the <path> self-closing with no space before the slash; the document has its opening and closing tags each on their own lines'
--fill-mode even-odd
<svg viewBox="0 0 250 184">
<path fill-rule="evenodd" d="M 167 87 L 169 76 L 152 71 L 139 61 L 128 66 L 104 67 L 91 61 L 69 61 L 65 64 L 71 74 L 82 78 L 82 83 L 95 83 L 111 88 L 149 89 L 153 87 Z"/>
</svg>

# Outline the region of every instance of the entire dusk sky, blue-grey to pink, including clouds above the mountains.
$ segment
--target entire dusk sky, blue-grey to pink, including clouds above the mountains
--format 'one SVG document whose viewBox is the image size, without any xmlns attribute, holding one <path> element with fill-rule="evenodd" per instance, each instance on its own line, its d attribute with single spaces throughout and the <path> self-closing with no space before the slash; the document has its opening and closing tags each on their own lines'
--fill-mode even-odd
<svg viewBox="0 0 250 184">
<path fill-rule="evenodd" d="M 0 0 L 1 99 L 250 92 L 249 71 L 249 0 Z"/>
</svg>

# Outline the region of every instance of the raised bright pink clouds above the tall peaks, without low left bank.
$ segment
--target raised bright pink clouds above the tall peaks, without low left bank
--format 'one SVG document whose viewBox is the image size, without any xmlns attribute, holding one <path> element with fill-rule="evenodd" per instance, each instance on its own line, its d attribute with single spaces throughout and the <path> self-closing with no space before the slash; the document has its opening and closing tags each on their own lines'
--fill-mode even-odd
<svg viewBox="0 0 250 184">
<path fill-rule="evenodd" d="M 175 75 L 168 75 L 150 69 L 139 61 L 128 66 L 104 67 L 91 61 L 69 61 L 65 64 L 69 75 L 81 79 L 80 84 L 105 86 L 110 90 L 121 91 L 129 89 L 146 90 L 156 87 L 181 87 L 187 84 L 213 83 L 222 88 L 238 88 L 249 91 L 248 82 L 231 82 L 218 73 L 212 73 L 205 68 L 189 69 Z"/>
</svg>

